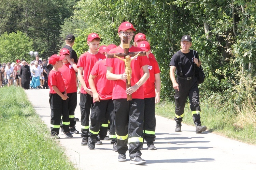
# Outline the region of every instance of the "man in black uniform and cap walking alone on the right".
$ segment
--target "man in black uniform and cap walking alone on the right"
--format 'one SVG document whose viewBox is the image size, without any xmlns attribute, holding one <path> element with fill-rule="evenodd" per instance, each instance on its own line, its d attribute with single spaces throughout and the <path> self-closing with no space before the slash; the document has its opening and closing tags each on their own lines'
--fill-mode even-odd
<svg viewBox="0 0 256 170">
<path fill-rule="evenodd" d="M 190 50 L 192 39 L 189 35 L 181 38 L 181 50 L 172 56 L 170 62 L 170 78 L 175 90 L 175 132 L 181 132 L 181 122 L 184 116 L 184 107 L 187 97 L 190 102 L 190 109 L 194 124 L 196 125 L 196 133 L 206 131 L 207 127 L 201 125 L 200 121 L 200 105 L 199 105 L 199 89 L 197 78 L 195 77 L 195 67 L 199 67 L 202 62 L 199 60 L 197 51 Z M 175 79 L 174 72 L 177 68 Z"/>
</svg>

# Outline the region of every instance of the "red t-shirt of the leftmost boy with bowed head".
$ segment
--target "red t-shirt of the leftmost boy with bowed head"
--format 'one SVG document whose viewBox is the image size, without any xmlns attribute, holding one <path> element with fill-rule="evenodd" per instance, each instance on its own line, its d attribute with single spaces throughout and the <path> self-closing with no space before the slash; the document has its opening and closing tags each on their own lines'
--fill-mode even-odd
<svg viewBox="0 0 256 170">
<path fill-rule="evenodd" d="M 59 71 L 50 71 L 48 75 L 48 86 L 50 88 L 50 94 L 56 94 L 56 92 L 53 90 L 53 86 L 56 86 L 62 93 L 65 91 L 65 84 Z"/>
</svg>

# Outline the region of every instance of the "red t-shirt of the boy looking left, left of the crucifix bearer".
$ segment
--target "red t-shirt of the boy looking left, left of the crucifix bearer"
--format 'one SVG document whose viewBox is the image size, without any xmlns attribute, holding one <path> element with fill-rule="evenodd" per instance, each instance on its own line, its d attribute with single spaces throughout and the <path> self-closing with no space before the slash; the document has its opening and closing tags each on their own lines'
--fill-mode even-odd
<svg viewBox="0 0 256 170">
<path fill-rule="evenodd" d="M 87 88 L 90 88 L 88 78 L 89 78 L 91 69 L 93 69 L 93 66 L 97 61 L 104 60 L 105 58 L 106 58 L 105 55 L 99 52 L 97 54 L 91 54 L 87 51 L 86 53 L 80 55 L 77 63 L 77 67 L 83 67 L 83 70 L 84 70 L 83 78 Z M 81 87 L 80 92 L 82 94 L 87 94 L 83 86 Z"/>
</svg>

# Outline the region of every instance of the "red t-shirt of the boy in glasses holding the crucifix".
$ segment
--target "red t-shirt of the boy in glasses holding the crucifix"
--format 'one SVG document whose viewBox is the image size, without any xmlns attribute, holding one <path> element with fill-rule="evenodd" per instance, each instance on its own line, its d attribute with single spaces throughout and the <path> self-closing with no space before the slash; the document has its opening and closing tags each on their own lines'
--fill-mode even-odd
<svg viewBox="0 0 256 170">
<path fill-rule="evenodd" d="M 129 48 L 129 52 L 138 52 L 143 51 L 141 48 L 132 46 Z M 109 51 L 109 53 L 120 53 L 124 52 L 124 49 L 120 46 L 112 49 Z M 145 66 L 149 64 L 149 61 L 147 59 L 147 56 L 139 56 L 134 58 L 131 61 L 131 86 L 136 84 L 140 78 L 140 69 L 142 66 Z M 123 74 L 125 72 L 125 62 L 118 59 L 118 58 L 107 58 L 105 66 L 112 67 L 114 74 Z M 125 92 L 126 90 L 126 80 L 115 80 L 113 86 L 113 97 L 112 99 L 127 99 L 127 94 Z M 139 89 L 132 94 L 133 99 L 144 99 L 144 91 L 143 86 L 140 86 Z"/>
</svg>

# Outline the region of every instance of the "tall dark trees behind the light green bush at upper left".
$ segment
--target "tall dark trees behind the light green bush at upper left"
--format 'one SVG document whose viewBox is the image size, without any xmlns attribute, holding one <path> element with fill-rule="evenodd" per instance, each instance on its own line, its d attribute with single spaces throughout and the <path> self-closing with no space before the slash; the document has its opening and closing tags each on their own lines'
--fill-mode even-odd
<svg viewBox="0 0 256 170">
<path fill-rule="evenodd" d="M 39 52 L 40 57 L 47 58 L 60 49 L 63 42 L 63 39 L 59 37 L 60 26 L 65 18 L 73 14 L 72 7 L 75 1 L 0 0 L 0 35 L 5 32 L 9 34 L 21 31 L 33 40 L 33 48 L 17 52 L 26 51 L 27 57 L 30 58 L 29 51 L 34 50 Z M 7 57 L 7 54 L 1 54 L 0 57 Z"/>
</svg>

